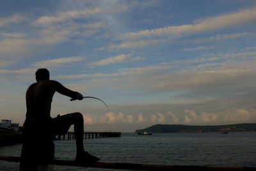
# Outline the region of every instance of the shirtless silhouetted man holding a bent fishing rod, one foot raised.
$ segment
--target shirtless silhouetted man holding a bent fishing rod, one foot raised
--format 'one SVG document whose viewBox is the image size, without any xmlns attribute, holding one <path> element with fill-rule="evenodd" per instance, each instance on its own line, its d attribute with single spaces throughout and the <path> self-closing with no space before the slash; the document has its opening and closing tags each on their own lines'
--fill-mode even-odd
<svg viewBox="0 0 256 171">
<path fill-rule="evenodd" d="M 52 96 L 57 91 L 60 94 L 76 100 L 82 100 L 83 95 L 76 91 L 71 91 L 60 82 L 49 79 L 49 71 L 41 68 L 36 71 L 36 82 L 28 87 L 26 92 L 26 121 L 24 123 L 22 147 L 23 163 L 38 162 L 49 163 L 54 158 L 54 144 L 52 137 L 61 135 L 68 131 L 74 124 L 76 136 L 76 160 L 77 162 L 98 161 L 99 158 L 84 151 L 83 133 L 84 120 L 79 112 L 58 115 L 51 117 Z M 53 152 L 53 154 L 52 154 Z M 22 165 L 22 163 L 21 163 Z"/>
</svg>

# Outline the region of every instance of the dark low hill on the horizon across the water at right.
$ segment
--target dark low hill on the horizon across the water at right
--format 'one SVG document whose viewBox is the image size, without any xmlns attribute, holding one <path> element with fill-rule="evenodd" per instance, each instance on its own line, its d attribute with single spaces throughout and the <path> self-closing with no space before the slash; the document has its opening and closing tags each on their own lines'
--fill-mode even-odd
<svg viewBox="0 0 256 171">
<path fill-rule="evenodd" d="M 151 132 L 151 133 L 182 133 L 182 132 L 231 132 L 231 131 L 256 131 L 256 123 L 244 124 L 226 124 L 226 125 L 209 125 L 209 126 L 196 126 L 184 124 L 156 124 L 142 130 L 135 132 Z"/>
</svg>

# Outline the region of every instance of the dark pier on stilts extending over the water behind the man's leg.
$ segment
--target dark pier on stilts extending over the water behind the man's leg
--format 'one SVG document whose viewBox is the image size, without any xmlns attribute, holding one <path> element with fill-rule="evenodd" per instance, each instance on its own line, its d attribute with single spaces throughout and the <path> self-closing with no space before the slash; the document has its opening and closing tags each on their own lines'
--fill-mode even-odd
<svg viewBox="0 0 256 171">
<path fill-rule="evenodd" d="M 57 135 L 56 140 L 74 140 L 76 138 L 74 132 L 68 132 L 63 135 Z M 121 137 L 120 132 L 84 132 L 84 139 L 87 138 L 109 138 Z"/>
</svg>

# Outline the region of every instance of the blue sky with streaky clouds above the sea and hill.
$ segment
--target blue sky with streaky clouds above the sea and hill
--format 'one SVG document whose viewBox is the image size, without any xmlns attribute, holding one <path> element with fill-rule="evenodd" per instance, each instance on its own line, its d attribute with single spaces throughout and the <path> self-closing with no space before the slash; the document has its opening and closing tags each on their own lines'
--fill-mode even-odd
<svg viewBox="0 0 256 171">
<path fill-rule="evenodd" d="M 56 93 L 52 117 L 84 131 L 256 122 L 256 1 L 0 1 L 0 119 L 22 125 L 35 71 L 97 100 Z"/>
</svg>

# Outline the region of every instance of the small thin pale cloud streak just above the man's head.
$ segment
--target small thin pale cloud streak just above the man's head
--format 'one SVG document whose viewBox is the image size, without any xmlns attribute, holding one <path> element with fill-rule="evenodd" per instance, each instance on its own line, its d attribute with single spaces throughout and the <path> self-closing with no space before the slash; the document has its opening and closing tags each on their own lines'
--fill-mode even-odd
<svg viewBox="0 0 256 171">
<path fill-rule="evenodd" d="M 75 57 L 62 57 L 58 59 L 49 59 L 49 60 L 37 62 L 33 64 L 33 66 L 36 66 L 38 68 L 62 66 L 63 64 L 70 64 L 78 61 L 83 61 L 83 57 L 75 56 Z"/>
</svg>

